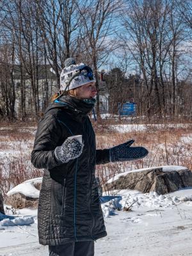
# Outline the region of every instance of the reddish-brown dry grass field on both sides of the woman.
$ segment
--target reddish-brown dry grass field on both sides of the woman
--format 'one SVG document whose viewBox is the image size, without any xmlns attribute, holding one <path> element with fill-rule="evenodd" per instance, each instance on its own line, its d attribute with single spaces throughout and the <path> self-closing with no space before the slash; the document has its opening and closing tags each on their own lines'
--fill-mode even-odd
<svg viewBox="0 0 192 256">
<path fill-rule="evenodd" d="M 118 122 L 110 121 L 111 125 Z M 123 123 L 123 121 L 122 121 Z M 97 148 L 109 148 L 134 138 L 134 146 L 146 147 L 149 154 L 144 159 L 131 162 L 109 163 L 97 166 L 102 184 L 116 174 L 129 170 L 161 165 L 182 165 L 192 170 L 192 143 L 184 138 L 192 134 L 192 125 L 170 128 L 163 125 L 145 125 L 145 131 L 119 133 L 111 129 L 109 122 L 93 123 Z M 40 177 L 42 170 L 36 170 L 30 162 L 35 138 L 36 124 L 0 125 L 0 190 L 3 195 L 24 180 Z"/>
</svg>

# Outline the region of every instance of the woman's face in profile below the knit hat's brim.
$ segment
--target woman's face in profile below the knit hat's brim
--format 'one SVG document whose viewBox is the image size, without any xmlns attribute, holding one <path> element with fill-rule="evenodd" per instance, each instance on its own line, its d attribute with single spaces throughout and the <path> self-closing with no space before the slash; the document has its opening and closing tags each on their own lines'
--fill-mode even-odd
<svg viewBox="0 0 192 256">
<path fill-rule="evenodd" d="M 77 88 L 77 97 L 80 99 L 92 99 L 97 94 L 97 89 L 95 82 L 84 84 L 83 86 Z"/>
</svg>

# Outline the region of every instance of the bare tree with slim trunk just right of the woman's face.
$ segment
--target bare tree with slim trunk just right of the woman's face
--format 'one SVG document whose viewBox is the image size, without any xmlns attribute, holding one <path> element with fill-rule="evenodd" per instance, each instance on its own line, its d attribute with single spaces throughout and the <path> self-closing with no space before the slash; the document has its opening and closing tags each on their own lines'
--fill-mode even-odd
<svg viewBox="0 0 192 256">
<path fill-rule="evenodd" d="M 121 1 L 113 0 L 83 0 L 77 3 L 80 13 L 80 33 L 84 43 L 86 59 L 90 59 L 93 65 L 97 87 L 97 118 L 99 112 L 99 65 L 102 65 L 108 58 L 115 42 L 112 40 L 114 34 L 114 22 L 116 12 L 122 6 Z M 88 55 L 88 56 L 87 56 Z"/>
</svg>

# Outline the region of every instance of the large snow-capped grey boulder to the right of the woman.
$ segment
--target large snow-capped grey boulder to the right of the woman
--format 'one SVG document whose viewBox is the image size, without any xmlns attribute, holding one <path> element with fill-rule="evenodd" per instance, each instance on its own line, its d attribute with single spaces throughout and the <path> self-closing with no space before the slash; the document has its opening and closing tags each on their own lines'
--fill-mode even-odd
<svg viewBox="0 0 192 256">
<path fill-rule="evenodd" d="M 163 171 L 163 168 L 148 168 L 136 172 L 120 173 L 105 184 L 105 190 L 136 189 L 142 193 L 156 191 L 159 195 L 192 186 L 192 172 L 185 170 Z"/>
</svg>

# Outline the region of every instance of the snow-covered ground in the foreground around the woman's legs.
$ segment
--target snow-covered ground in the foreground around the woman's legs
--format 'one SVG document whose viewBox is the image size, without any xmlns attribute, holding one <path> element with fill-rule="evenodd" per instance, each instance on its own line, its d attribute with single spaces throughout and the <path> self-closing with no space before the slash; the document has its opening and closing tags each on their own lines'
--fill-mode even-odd
<svg viewBox="0 0 192 256">
<path fill-rule="evenodd" d="M 33 195 L 31 184 L 16 190 Z M 95 243 L 96 256 L 192 255 L 192 188 L 167 195 L 122 190 L 101 203 L 108 236 Z M 7 214 L 0 215 L 0 255 L 48 255 L 47 246 L 38 244 L 37 211 Z"/>
</svg>

